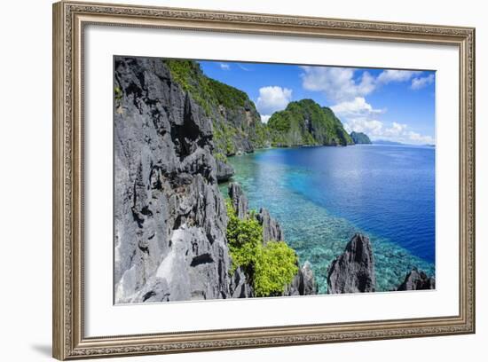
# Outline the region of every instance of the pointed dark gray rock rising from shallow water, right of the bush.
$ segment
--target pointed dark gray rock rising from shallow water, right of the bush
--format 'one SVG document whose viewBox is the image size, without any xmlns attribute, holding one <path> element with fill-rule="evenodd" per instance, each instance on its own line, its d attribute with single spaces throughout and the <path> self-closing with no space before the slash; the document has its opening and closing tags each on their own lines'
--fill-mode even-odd
<svg viewBox="0 0 488 362">
<path fill-rule="evenodd" d="M 374 256 L 369 238 L 357 233 L 327 271 L 327 292 L 374 292 Z"/>
</svg>

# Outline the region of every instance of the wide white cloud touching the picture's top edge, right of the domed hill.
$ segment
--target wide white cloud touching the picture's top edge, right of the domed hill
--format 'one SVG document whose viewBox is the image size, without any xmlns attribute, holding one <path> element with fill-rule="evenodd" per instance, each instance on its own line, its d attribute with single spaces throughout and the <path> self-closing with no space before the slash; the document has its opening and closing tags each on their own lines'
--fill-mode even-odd
<svg viewBox="0 0 488 362">
<path fill-rule="evenodd" d="M 408 82 L 421 71 L 387 69 L 374 77 L 364 71 L 355 77 L 358 69 L 345 67 L 301 67 L 302 86 L 307 91 L 323 91 L 329 101 L 346 102 L 366 97 L 382 85 Z"/>
</svg>

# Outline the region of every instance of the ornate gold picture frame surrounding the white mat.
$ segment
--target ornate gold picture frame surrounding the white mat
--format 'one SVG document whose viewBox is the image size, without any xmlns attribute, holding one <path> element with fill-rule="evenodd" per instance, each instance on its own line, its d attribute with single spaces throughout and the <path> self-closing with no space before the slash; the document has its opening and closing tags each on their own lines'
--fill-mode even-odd
<svg viewBox="0 0 488 362">
<path fill-rule="evenodd" d="M 449 44 L 460 55 L 458 315 L 170 334 L 83 333 L 83 29 L 87 24 Z M 475 332 L 475 29 L 120 4 L 53 5 L 53 357 L 364 341 Z"/>
</svg>

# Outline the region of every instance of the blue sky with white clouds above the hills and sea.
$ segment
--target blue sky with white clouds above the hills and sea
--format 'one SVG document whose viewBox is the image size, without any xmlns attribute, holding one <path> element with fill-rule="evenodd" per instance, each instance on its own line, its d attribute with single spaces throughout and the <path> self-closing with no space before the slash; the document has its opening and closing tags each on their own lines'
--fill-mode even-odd
<svg viewBox="0 0 488 362">
<path fill-rule="evenodd" d="M 435 144 L 435 72 L 199 61 L 211 78 L 248 93 L 267 122 L 293 100 L 331 107 L 346 130 Z"/>
</svg>

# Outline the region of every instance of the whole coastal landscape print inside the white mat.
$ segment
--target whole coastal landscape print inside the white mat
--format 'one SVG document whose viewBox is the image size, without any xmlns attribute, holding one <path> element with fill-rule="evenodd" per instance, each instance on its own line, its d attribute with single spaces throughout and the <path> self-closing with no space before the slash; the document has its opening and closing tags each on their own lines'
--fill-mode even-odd
<svg viewBox="0 0 488 362">
<path fill-rule="evenodd" d="M 436 73 L 114 57 L 114 303 L 436 288 Z"/>
</svg>

